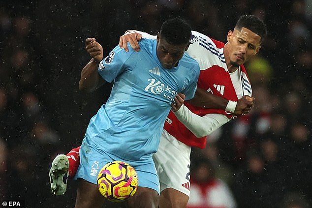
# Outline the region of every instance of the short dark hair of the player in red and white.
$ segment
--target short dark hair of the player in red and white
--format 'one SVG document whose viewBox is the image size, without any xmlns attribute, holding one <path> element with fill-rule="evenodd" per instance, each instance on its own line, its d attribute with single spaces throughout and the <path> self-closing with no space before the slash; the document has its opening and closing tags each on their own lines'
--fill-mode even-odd
<svg viewBox="0 0 312 208">
<path fill-rule="evenodd" d="M 247 28 L 261 37 L 260 42 L 267 36 L 267 27 L 262 20 L 254 15 L 242 15 L 235 26 L 235 29 L 241 30 Z"/>
</svg>

